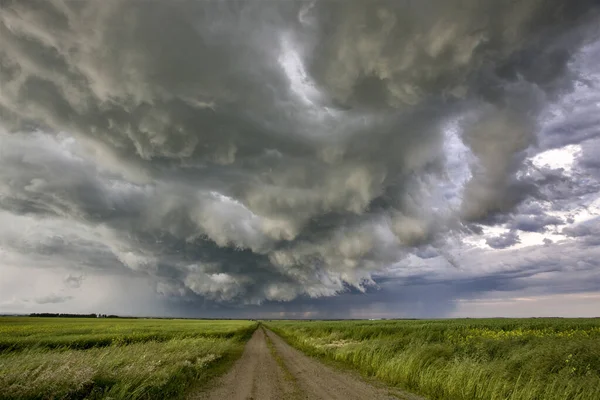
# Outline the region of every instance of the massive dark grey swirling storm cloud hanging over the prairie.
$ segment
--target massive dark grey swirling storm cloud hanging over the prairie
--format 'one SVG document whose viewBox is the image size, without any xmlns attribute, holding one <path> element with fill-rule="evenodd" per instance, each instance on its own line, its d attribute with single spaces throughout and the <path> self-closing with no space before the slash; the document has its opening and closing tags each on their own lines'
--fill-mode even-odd
<svg viewBox="0 0 600 400">
<path fill-rule="evenodd" d="M 72 233 L 4 246 L 167 297 L 363 292 L 540 196 L 526 151 L 594 4 L 4 1 L 0 207 Z"/>
</svg>

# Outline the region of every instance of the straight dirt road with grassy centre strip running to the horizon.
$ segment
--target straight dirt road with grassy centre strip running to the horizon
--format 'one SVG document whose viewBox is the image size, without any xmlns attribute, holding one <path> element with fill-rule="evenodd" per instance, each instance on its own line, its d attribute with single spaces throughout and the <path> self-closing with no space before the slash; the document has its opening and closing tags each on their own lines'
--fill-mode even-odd
<svg viewBox="0 0 600 400">
<path fill-rule="evenodd" d="M 199 400 L 417 400 L 396 389 L 376 387 L 359 376 L 305 356 L 273 332 L 257 329 L 244 354 Z"/>
</svg>

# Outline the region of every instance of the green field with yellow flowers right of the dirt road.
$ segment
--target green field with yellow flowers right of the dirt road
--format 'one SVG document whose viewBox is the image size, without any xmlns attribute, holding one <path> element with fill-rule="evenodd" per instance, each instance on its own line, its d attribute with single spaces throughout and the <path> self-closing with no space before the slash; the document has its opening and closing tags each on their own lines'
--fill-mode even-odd
<svg viewBox="0 0 600 400">
<path fill-rule="evenodd" d="M 600 399 L 600 319 L 266 325 L 305 353 L 430 399 Z"/>
</svg>

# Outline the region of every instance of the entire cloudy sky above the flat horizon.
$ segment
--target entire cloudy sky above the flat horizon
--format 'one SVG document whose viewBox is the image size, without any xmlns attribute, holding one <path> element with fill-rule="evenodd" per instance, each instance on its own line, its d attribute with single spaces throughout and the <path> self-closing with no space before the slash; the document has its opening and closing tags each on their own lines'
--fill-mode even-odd
<svg viewBox="0 0 600 400">
<path fill-rule="evenodd" d="M 596 3 L 0 1 L 0 312 L 598 315 Z"/>
</svg>

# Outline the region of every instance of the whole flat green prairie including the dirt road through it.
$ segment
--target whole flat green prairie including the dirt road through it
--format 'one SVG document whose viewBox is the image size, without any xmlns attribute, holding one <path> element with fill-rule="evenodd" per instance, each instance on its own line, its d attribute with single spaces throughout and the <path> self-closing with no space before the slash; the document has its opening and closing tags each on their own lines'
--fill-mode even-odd
<svg viewBox="0 0 600 400">
<path fill-rule="evenodd" d="M 1 399 L 418 396 L 597 400 L 600 319 L 0 318 Z"/>
</svg>

